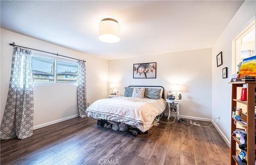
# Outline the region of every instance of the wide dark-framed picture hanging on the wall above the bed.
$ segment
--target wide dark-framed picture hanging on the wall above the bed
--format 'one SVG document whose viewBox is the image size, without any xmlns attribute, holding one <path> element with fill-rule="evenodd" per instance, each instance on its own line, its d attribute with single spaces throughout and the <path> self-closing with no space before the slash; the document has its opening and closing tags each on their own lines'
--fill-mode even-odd
<svg viewBox="0 0 256 165">
<path fill-rule="evenodd" d="M 140 63 L 133 65 L 134 79 L 155 79 L 156 63 Z"/>
</svg>

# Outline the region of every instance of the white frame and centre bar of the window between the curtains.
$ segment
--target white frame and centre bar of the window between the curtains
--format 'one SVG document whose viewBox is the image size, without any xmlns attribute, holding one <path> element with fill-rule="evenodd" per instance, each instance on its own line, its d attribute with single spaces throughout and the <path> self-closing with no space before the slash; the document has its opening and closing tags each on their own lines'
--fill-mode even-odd
<svg viewBox="0 0 256 165">
<path fill-rule="evenodd" d="M 33 82 L 34 86 L 55 86 L 55 85 L 62 85 L 62 86 L 77 86 L 78 83 L 62 83 L 62 82 L 56 82 L 57 81 L 57 74 L 56 74 L 56 69 L 57 69 L 57 65 L 56 65 L 56 61 L 62 61 L 62 62 L 66 62 L 66 63 L 72 63 L 72 64 L 77 64 L 77 60 L 73 60 L 73 59 L 66 59 L 65 57 L 56 57 L 56 55 L 45 55 L 45 54 L 41 54 L 41 53 L 37 53 L 37 52 L 33 52 L 32 51 L 32 57 L 39 57 L 39 58 L 46 58 L 46 59 L 52 59 L 54 60 L 54 83 L 44 83 L 44 82 Z"/>
</svg>

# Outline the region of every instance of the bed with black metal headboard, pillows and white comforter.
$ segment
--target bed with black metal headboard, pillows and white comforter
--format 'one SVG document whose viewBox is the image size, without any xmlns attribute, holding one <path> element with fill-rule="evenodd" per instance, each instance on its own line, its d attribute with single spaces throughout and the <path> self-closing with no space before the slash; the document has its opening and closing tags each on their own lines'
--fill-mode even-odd
<svg viewBox="0 0 256 165">
<path fill-rule="evenodd" d="M 164 112 L 163 98 L 162 86 L 128 86 L 124 96 L 96 100 L 86 114 L 89 118 L 122 123 L 146 132 L 156 116 Z"/>
</svg>

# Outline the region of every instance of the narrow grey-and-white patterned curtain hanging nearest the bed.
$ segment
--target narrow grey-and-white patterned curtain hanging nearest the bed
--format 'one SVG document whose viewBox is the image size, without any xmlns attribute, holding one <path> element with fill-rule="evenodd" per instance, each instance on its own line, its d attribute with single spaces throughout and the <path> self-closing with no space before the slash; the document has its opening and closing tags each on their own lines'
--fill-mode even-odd
<svg viewBox="0 0 256 165">
<path fill-rule="evenodd" d="M 78 61 L 78 116 L 83 118 L 86 116 L 85 110 L 87 108 L 87 97 L 86 97 L 86 67 L 84 61 Z"/>
</svg>

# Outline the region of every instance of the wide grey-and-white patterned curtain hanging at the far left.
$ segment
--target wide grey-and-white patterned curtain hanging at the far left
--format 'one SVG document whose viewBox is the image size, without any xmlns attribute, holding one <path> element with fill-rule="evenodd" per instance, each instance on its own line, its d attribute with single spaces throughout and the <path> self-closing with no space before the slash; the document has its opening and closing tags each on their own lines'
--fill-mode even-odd
<svg viewBox="0 0 256 165">
<path fill-rule="evenodd" d="M 31 51 L 14 48 L 9 92 L 1 126 L 1 140 L 25 139 L 33 134 L 34 89 Z"/>
</svg>

